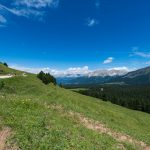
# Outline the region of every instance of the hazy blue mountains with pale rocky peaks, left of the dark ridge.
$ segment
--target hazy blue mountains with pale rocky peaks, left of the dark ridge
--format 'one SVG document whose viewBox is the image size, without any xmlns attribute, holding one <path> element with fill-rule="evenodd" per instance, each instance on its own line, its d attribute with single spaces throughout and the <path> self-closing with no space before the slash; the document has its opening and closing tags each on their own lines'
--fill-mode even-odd
<svg viewBox="0 0 150 150">
<path fill-rule="evenodd" d="M 86 75 L 77 74 L 72 76 L 71 74 L 65 77 L 58 77 L 57 82 L 62 84 L 102 84 L 109 82 L 109 80 L 115 78 L 116 76 L 124 75 L 128 72 L 126 68 L 121 69 L 105 69 L 105 70 L 96 70 L 89 72 Z"/>
</svg>

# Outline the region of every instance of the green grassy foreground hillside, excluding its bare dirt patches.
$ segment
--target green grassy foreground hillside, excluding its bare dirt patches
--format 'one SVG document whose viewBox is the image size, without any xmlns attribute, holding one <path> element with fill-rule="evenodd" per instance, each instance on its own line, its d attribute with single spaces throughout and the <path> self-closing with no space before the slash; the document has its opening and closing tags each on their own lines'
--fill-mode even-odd
<svg viewBox="0 0 150 150">
<path fill-rule="evenodd" d="M 0 127 L 14 131 L 10 140 L 21 149 L 117 149 L 118 142 L 77 123 L 45 103 L 84 114 L 107 127 L 150 144 L 150 115 L 83 96 L 53 85 L 44 85 L 34 75 L 4 80 L 0 91 Z M 134 149 L 124 144 L 127 149 Z M 136 148 L 135 148 L 136 149 Z"/>
</svg>

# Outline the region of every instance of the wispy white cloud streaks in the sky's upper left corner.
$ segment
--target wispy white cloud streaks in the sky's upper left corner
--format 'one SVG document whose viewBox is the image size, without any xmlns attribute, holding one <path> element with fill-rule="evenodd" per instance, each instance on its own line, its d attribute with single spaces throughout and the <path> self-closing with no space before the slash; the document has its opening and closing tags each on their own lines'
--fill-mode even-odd
<svg viewBox="0 0 150 150">
<path fill-rule="evenodd" d="M 22 16 L 26 18 L 37 17 L 39 20 L 44 16 L 46 10 L 44 8 L 57 7 L 59 0 L 10 0 L 9 7 L 0 3 L 0 14 L 2 12 L 5 15 L 13 14 L 16 16 Z M 1 15 L 0 23 L 5 20 L 5 17 Z"/>
</svg>

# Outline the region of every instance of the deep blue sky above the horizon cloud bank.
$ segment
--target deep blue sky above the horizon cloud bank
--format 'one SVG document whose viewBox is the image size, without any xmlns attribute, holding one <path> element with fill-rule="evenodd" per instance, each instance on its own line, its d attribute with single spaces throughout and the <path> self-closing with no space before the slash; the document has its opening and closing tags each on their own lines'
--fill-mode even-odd
<svg viewBox="0 0 150 150">
<path fill-rule="evenodd" d="M 11 66 L 150 65 L 149 0 L 0 0 L 0 60 Z"/>
</svg>

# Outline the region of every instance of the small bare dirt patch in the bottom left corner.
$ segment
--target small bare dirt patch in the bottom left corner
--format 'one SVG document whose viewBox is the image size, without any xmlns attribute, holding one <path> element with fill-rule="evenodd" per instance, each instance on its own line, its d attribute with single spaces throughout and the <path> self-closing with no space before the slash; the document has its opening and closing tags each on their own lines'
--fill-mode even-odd
<svg viewBox="0 0 150 150">
<path fill-rule="evenodd" d="M 6 140 L 10 136 L 11 132 L 9 128 L 4 128 L 0 131 L 0 150 L 4 150 L 6 146 Z"/>
</svg>

